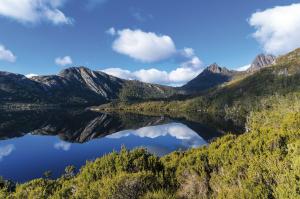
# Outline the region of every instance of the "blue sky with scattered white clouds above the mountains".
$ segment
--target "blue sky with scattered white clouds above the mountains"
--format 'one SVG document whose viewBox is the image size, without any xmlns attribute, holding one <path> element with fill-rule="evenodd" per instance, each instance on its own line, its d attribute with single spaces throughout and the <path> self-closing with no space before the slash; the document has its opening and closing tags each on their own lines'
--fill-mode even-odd
<svg viewBox="0 0 300 199">
<path fill-rule="evenodd" d="M 0 71 L 71 66 L 182 85 L 206 66 L 245 69 L 300 47 L 300 1 L 0 0 Z"/>
</svg>

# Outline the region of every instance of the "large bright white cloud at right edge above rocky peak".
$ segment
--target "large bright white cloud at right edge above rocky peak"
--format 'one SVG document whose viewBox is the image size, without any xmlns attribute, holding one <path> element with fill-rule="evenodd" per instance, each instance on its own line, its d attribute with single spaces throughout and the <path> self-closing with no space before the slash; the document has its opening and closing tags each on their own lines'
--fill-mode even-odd
<svg viewBox="0 0 300 199">
<path fill-rule="evenodd" d="M 249 23 L 267 53 L 284 54 L 300 47 L 300 3 L 255 12 Z"/>
</svg>

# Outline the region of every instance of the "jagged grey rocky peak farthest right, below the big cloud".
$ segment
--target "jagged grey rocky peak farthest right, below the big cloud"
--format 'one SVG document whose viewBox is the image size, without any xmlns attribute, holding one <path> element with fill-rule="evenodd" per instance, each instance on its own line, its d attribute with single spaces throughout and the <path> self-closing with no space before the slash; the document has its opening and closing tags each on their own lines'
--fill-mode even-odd
<svg viewBox="0 0 300 199">
<path fill-rule="evenodd" d="M 253 60 L 251 66 L 247 70 L 247 72 L 254 72 L 254 71 L 260 70 L 266 66 L 273 64 L 275 62 L 275 60 L 276 60 L 276 57 L 274 55 L 259 54 Z"/>
</svg>

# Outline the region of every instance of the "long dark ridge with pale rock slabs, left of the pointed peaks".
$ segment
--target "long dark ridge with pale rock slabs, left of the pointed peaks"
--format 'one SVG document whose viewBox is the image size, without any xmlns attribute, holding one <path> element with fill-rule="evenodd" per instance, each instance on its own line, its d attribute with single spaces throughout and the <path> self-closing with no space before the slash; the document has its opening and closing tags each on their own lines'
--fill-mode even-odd
<svg viewBox="0 0 300 199">
<path fill-rule="evenodd" d="M 85 67 L 72 67 L 58 75 L 30 79 L 23 75 L 0 72 L 1 105 L 32 103 L 88 106 L 119 98 L 167 98 L 177 92 L 171 87 L 123 80 Z"/>
</svg>

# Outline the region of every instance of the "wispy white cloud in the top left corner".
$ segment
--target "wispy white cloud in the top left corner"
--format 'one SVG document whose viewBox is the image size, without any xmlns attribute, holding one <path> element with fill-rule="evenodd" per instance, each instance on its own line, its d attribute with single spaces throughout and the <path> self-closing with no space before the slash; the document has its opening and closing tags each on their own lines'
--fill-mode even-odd
<svg viewBox="0 0 300 199">
<path fill-rule="evenodd" d="M 1 0 L 0 15 L 22 23 L 49 21 L 55 25 L 72 24 L 59 10 L 65 0 Z"/>
</svg>

